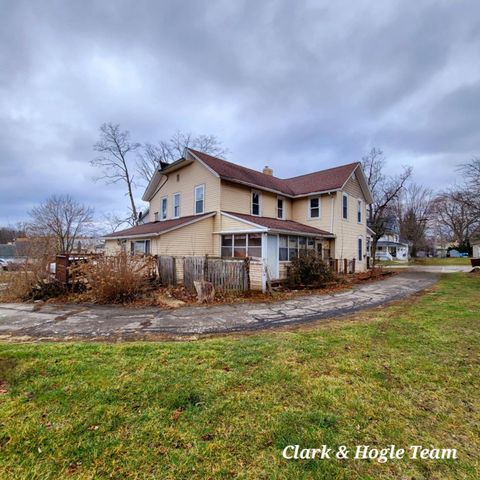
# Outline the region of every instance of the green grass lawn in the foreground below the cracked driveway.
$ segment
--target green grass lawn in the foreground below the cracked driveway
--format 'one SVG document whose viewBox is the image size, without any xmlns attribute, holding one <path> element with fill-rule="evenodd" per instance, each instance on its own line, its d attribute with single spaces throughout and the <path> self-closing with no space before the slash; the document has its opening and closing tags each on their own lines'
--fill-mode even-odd
<svg viewBox="0 0 480 480">
<path fill-rule="evenodd" d="M 472 274 L 294 332 L 3 344 L 0 478 L 478 479 L 479 354 Z M 458 460 L 285 460 L 291 444 Z"/>
</svg>

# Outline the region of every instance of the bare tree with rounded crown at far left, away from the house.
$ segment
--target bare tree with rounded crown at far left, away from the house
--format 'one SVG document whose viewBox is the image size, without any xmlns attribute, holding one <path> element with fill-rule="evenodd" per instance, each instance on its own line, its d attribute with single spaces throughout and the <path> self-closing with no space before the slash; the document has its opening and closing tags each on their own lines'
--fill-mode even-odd
<svg viewBox="0 0 480 480">
<path fill-rule="evenodd" d="M 70 253 L 75 240 L 92 226 L 93 209 L 70 195 L 52 195 L 30 212 L 29 233 L 37 238 L 53 238 L 57 252 Z"/>
</svg>

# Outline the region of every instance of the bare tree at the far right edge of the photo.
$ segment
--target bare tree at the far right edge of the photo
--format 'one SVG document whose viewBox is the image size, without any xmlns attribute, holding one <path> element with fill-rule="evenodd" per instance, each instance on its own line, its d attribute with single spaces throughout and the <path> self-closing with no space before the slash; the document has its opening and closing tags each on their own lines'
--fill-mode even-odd
<svg viewBox="0 0 480 480">
<path fill-rule="evenodd" d="M 438 195 L 433 202 L 433 212 L 437 230 L 459 246 L 468 244 L 472 233 L 480 227 L 477 211 L 463 200 L 458 190 Z"/>
</svg>

